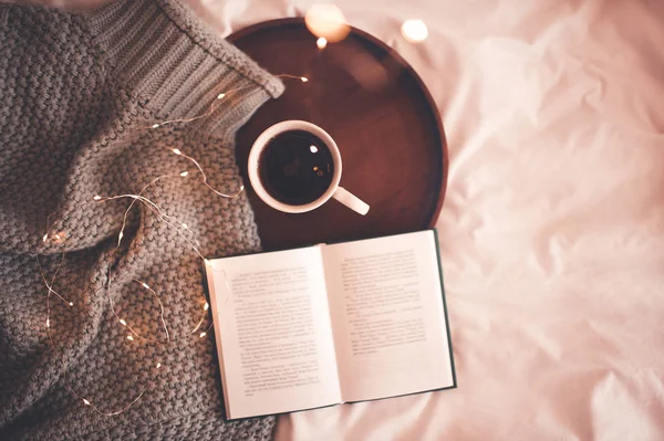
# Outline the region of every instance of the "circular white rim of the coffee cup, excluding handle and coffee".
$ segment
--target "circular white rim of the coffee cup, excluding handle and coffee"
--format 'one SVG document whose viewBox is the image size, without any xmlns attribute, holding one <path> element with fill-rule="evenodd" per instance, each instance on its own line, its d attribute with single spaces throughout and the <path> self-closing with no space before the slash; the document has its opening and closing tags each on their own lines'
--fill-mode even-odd
<svg viewBox="0 0 664 441">
<path fill-rule="evenodd" d="M 330 153 L 332 154 L 332 160 L 334 161 L 334 175 L 332 176 L 332 182 L 330 183 L 328 190 L 325 190 L 325 192 L 314 201 L 303 206 L 291 206 L 274 199 L 272 196 L 270 196 L 268 190 L 266 190 L 260 181 L 260 177 L 258 176 L 258 159 L 260 158 L 260 154 L 264 149 L 268 140 L 287 130 L 305 130 L 318 136 L 330 149 Z M 264 129 L 263 133 L 256 138 L 253 145 L 251 146 L 247 167 L 249 182 L 251 182 L 251 187 L 253 188 L 256 195 L 268 206 L 287 213 L 303 213 L 315 210 L 330 200 L 330 198 L 332 198 L 336 191 L 339 182 L 341 181 L 341 153 L 339 151 L 339 147 L 336 146 L 336 143 L 334 143 L 334 139 L 332 139 L 330 134 L 328 134 L 321 127 L 301 119 L 282 120 Z"/>
</svg>

